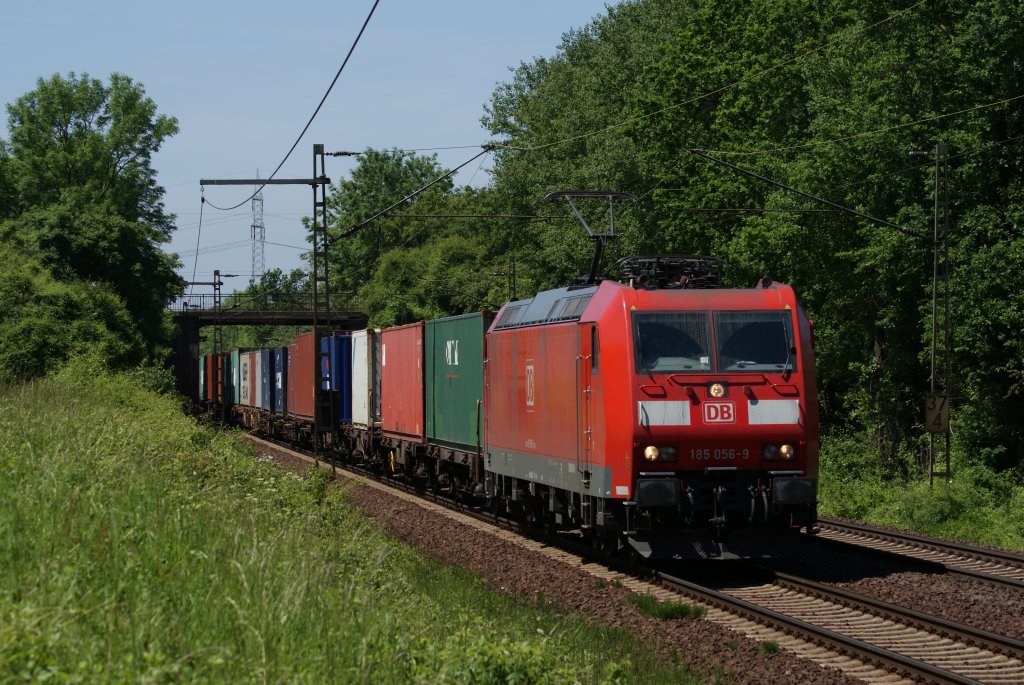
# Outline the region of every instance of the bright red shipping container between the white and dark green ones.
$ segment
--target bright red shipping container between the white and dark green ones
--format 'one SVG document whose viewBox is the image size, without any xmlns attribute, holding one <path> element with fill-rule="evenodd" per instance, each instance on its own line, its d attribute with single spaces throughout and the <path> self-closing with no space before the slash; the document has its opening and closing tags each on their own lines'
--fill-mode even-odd
<svg viewBox="0 0 1024 685">
<path fill-rule="evenodd" d="M 381 331 L 381 429 L 423 442 L 423 323 Z"/>
</svg>

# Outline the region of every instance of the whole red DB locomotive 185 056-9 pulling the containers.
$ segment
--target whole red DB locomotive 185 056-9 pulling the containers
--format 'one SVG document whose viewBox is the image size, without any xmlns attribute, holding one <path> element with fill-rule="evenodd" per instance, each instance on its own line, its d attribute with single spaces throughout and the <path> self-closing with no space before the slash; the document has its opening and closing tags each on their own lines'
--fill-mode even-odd
<svg viewBox="0 0 1024 685">
<path fill-rule="evenodd" d="M 624 283 L 499 311 L 486 493 L 644 556 L 746 556 L 767 528 L 812 526 L 814 356 L 793 289 L 708 288 L 711 260 L 621 263 Z"/>
</svg>

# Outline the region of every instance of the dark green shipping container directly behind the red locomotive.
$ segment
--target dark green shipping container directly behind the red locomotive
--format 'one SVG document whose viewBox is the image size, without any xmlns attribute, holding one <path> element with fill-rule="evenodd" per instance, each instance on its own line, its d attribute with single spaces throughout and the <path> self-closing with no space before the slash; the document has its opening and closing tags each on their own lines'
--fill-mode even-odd
<svg viewBox="0 0 1024 685">
<path fill-rule="evenodd" d="M 427 322 L 427 442 L 465 452 L 483 443 L 483 336 L 489 312 Z"/>
</svg>

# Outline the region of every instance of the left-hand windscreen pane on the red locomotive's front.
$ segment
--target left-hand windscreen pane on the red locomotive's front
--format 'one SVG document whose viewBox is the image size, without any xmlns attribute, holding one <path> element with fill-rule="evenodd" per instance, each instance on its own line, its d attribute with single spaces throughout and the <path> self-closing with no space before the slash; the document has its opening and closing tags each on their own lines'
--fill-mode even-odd
<svg viewBox="0 0 1024 685">
<path fill-rule="evenodd" d="M 711 371 L 711 315 L 707 311 L 635 312 L 637 371 Z"/>
</svg>

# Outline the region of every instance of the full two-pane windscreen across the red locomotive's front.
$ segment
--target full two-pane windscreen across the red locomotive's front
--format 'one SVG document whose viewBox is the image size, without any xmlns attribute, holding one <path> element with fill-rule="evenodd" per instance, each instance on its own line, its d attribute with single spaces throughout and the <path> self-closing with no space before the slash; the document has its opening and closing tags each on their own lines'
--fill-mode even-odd
<svg viewBox="0 0 1024 685">
<path fill-rule="evenodd" d="M 633 339 L 640 373 L 796 371 L 788 311 L 638 311 Z"/>
</svg>

